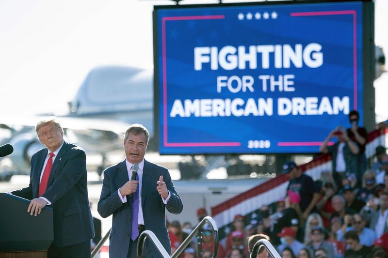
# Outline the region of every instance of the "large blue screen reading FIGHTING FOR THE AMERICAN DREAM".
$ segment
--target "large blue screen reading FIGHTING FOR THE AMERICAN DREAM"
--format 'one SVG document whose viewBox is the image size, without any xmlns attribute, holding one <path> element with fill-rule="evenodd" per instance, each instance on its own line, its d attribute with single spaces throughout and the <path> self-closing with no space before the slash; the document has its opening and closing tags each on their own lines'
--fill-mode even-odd
<svg viewBox="0 0 388 258">
<path fill-rule="evenodd" d="M 309 153 L 363 121 L 363 3 L 155 7 L 162 154 Z"/>
</svg>

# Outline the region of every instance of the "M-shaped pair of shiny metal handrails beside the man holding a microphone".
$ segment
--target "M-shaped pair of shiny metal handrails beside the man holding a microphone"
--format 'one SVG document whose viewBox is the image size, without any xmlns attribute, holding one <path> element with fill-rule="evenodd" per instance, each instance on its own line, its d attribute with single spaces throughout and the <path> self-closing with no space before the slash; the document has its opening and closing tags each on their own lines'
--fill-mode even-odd
<svg viewBox="0 0 388 258">
<path fill-rule="evenodd" d="M 197 237 L 197 253 L 198 258 L 202 258 L 202 227 L 209 223 L 211 228 L 213 229 L 213 237 L 214 237 L 214 250 L 213 250 L 213 257 L 216 258 L 218 255 L 218 228 L 215 224 L 215 221 L 210 217 L 207 216 L 201 220 L 201 222 L 193 229 L 193 231 L 188 235 L 188 237 L 179 245 L 177 250 L 174 252 L 174 254 L 171 256 L 171 258 L 178 258 L 185 248 L 192 242 L 194 237 Z M 158 249 L 159 253 L 162 255 L 163 258 L 170 258 L 167 251 L 164 249 L 158 238 L 155 236 L 155 234 L 150 230 L 143 231 L 140 236 L 137 243 L 137 257 L 142 258 L 143 257 L 143 248 L 144 243 L 146 241 L 146 238 L 149 237 L 151 242 L 155 245 L 155 247 Z"/>
</svg>

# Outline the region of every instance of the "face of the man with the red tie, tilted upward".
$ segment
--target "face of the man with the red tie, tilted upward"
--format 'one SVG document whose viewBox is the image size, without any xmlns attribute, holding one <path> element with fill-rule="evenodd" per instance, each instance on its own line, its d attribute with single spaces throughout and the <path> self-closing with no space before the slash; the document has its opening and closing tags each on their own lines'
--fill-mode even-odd
<svg viewBox="0 0 388 258">
<path fill-rule="evenodd" d="M 48 123 L 38 129 L 38 138 L 50 152 L 55 152 L 64 141 L 64 133 L 55 123 Z"/>
</svg>

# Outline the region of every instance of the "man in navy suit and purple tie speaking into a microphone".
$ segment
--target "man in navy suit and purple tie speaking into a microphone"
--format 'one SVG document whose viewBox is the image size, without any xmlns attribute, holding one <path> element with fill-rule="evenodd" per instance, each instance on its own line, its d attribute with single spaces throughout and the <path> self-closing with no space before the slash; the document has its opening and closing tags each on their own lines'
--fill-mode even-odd
<svg viewBox="0 0 388 258">
<path fill-rule="evenodd" d="M 164 212 L 166 208 L 179 214 L 183 204 L 168 170 L 144 159 L 148 139 L 143 125 L 131 125 L 123 141 L 126 159 L 104 171 L 97 210 L 103 218 L 113 214 L 111 258 L 135 258 L 139 235 L 146 229 L 154 232 L 167 253 L 171 253 Z M 132 167 L 137 166 L 138 177 L 130 180 Z M 147 243 L 144 256 L 161 257 L 153 244 Z"/>
</svg>

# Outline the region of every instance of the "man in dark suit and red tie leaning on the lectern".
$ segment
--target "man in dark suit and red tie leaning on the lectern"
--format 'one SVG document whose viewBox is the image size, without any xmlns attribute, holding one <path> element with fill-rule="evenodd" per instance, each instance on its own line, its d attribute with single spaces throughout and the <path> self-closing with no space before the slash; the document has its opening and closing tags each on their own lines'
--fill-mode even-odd
<svg viewBox="0 0 388 258">
<path fill-rule="evenodd" d="M 94 230 L 85 152 L 64 141 L 55 119 L 38 122 L 36 133 L 47 148 L 32 155 L 29 186 L 12 194 L 31 200 L 27 210 L 31 215 L 37 216 L 46 205 L 52 207 L 54 240 L 48 258 L 90 257 Z"/>
</svg>

